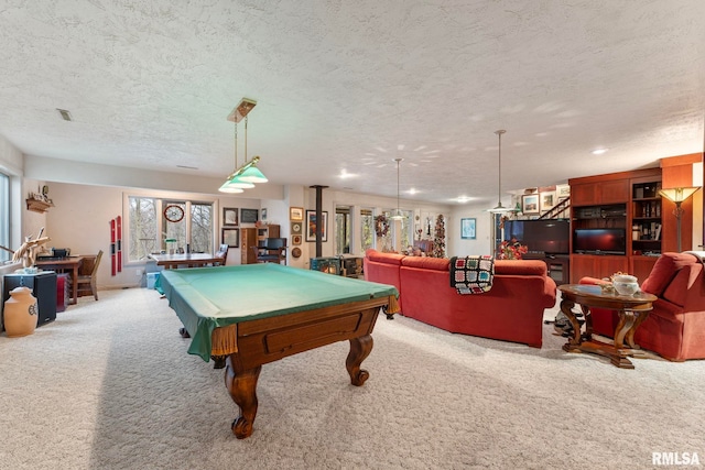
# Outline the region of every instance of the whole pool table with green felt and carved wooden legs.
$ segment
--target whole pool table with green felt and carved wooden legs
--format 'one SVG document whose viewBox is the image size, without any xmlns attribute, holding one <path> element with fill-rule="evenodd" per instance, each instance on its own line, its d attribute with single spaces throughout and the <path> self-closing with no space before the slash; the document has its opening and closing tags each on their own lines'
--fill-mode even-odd
<svg viewBox="0 0 705 470">
<path fill-rule="evenodd" d="M 399 310 L 393 286 L 273 263 L 163 271 L 160 280 L 192 338 L 188 353 L 225 359 L 239 439 L 252 434 L 262 364 L 348 340 L 346 368 L 360 386 L 380 308 L 388 318 Z"/>
</svg>

